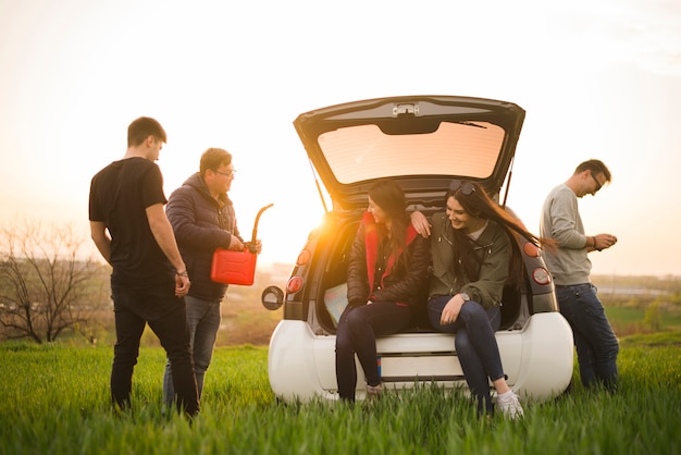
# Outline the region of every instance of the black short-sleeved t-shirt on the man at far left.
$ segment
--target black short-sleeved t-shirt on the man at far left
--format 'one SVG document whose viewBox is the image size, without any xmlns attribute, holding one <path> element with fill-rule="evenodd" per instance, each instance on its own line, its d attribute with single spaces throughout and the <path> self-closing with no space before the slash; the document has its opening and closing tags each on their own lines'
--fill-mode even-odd
<svg viewBox="0 0 681 455">
<path fill-rule="evenodd" d="M 111 235 L 111 283 L 148 285 L 174 282 L 174 269 L 159 247 L 147 207 L 165 204 L 159 167 L 144 158 L 114 161 L 92 177 L 89 219 Z"/>
</svg>

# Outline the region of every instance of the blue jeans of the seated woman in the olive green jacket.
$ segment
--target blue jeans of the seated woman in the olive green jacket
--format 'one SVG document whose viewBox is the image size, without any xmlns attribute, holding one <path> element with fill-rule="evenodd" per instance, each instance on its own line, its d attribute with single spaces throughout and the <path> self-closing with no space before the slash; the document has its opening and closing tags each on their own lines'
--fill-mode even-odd
<svg viewBox="0 0 681 455">
<path fill-rule="evenodd" d="M 485 308 L 478 302 L 469 300 L 461 306 L 456 321 L 439 323 L 442 311 L 451 299 L 445 295 L 433 297 L 428 303 L 428 317 L 434 329 L 445 333 L 456 333 L 454 346 L 461 364 L 466 382 L 478 401 L 478 413 L 483 409 L 494 411 L 490 394 L 490 378 L 493 382 L 504 378 L 502 356 L 494 332 L 502 323 L 499 307 Z"/>
</svg>

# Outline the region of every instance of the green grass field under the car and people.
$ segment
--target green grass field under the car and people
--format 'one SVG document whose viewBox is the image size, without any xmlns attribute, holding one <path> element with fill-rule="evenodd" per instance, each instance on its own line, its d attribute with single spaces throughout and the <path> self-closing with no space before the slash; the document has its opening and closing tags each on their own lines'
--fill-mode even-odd
<svg viewBox="0 0 681 455">
<path fill-rule="evenodd" d="M 143 348 L 134 409 L 109 406 L 108 347 L 0 344 L 0 453 L 12 454 L 679 454 L 681 332 L 621 340 L 620 391 L 578 383 L 522 421 L 475 417 L 430 385 L 373 406 L 278 404 L 267 347 L 221 347 L 191 423 L 161 414 L 164 355 Z"/>
</svg>

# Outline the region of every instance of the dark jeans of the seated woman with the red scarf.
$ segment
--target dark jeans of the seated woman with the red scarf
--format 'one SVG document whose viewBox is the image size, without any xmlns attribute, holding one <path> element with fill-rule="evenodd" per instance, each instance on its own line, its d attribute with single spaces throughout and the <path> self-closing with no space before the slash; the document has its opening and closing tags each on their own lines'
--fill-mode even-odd
<svg viewBox="0 0 681 455">
<path fill-rule="evenodd" d="M 355 353 L 364 370 L 367 383 L 381 383 L 376 364 L 376 336 L 399 332 L 409 324 L 410 318 L 408 306 L 392 302 L 345 308 L 336 330 L 336 379 L 340 399 L 355 401 Z"/>
</svg>

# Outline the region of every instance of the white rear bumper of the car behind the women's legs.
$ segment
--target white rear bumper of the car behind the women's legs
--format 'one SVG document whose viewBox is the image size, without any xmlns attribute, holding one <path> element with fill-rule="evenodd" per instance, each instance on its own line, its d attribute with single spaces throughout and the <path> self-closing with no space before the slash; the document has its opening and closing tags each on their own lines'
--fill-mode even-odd
<svg viewBox="0 0 681 455">
<path fill-rule="evenodd" d="M 435 381 L 451 389 L 466 385 L 454 336 L 408 333 L 381 337 L 376 348 L 386 386 L 411 388 Z M 525 401 L 543 402 L 562 393 L 572 378 L 572 331 L 559 312 L 532 316 L 522 330 L 496 333 L 509 385 Z M 285 401 L 315 396 L 337 399 L 335 336 L 314 335 L 304 321 L 283 320 L 270 341 L 268 374 L 273 392 Z M 357 397 L 366 381 L 358 364 Z"/>
</svg>

